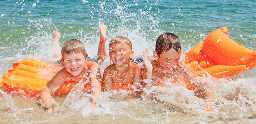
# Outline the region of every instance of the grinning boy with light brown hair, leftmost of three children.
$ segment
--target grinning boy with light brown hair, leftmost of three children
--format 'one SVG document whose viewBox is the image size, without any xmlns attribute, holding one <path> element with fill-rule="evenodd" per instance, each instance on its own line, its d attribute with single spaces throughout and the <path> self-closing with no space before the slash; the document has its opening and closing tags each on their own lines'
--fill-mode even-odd
<svg viewBox="0 0 256 124">
<path fill-rule="evenodd" d="M 79 82 L 80 80 L 86 81 L 89 79 L 90 91 L 92 97 L 92 105 L 96 104 L 97 96 L 101 93 L 101 75 L 99 66 L 87 61 L 88 55 L 86 53 L 83 43 L 76 39 L 71 39 L 64 43 L 62 46 L 62 62 L 65 68 L 61 69 L 47 86 L 41 92 L 40 98 L 44 103 L 47 112 L 51 113 L 52 108 L 52 95 L 55 93 L 65 82 Z"/>
</svg>

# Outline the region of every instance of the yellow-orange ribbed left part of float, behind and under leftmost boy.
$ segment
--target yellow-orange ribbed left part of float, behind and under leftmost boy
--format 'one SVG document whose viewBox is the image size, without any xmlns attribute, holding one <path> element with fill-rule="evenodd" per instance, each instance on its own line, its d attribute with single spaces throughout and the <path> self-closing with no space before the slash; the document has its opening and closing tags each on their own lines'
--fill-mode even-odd
<svg viewBox="0 0 256 124">
<path fill-rule="evenodd" d="M 9 92 L 21 89 L 24 92 L 20 93 L 24 95 L 39 94 L 53 76 L 63 68 L 30 58 L 12 65 L 13 68 L 9 69 L 7 74 L 3 74 L 0 88 L 5 86 Z M 76 84 L 77 82 L 65 82 L 55 94 L 67 94 Z M 87 91 L 89 88 L 89 83 L 86 83 L 83 90 Z"/>
</svg>

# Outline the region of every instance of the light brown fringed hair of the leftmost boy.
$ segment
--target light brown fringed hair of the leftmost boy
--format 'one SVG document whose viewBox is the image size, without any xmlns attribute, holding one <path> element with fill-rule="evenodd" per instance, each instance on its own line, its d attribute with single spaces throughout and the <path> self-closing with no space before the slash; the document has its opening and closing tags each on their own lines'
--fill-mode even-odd
<svg viewBox="0 0 256 124">
<path fill-rule="evenodd" d="M 71 39 L 65 42 L 62 46 L 62 59 L 64 55 L 72 55 L 74 53 L 82 53 L 85 58 L 88 56 L 84 44 L 80 40 Z"/>
</svg>

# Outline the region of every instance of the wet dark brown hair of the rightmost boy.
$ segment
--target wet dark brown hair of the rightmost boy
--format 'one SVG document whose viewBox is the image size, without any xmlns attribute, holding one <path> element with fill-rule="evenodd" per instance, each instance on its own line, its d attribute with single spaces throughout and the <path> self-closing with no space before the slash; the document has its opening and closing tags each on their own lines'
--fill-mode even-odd
<svg viewBox="0 0 256 124">
<path fill-rule="evenodd" d="M 160 56 L 164 51 L 174 49 L 178 53 L 181 52 L 180 40 L 174 33 L 166 32 L 161 34 L 155 44 L 155 51 Z"/>
</svg>

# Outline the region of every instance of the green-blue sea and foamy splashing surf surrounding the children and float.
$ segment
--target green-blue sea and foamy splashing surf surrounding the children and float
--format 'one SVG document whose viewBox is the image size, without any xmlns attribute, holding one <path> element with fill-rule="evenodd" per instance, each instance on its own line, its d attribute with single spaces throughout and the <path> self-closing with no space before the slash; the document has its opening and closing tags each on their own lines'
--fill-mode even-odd
<svg viewBox="0 0 256 124">
<path fill-rule="evenodd" d="M 0 75 L 24 58 L 57 61 L 52 53 L 52 31 L 60 44 L 79 39 L 90 57 L 97 55 L 98 25 L 108 26 L 106 51 L 112 37 L 132 42 L 135 57 L 145 47 L 153 55 L 156 38 L 166 31 L 180 37 L 184 55 L 222 26 L 229 37 L 256 49 L 256 2 L 251 1 L 1 1 Z M 155 99 L 132 100 L 127 91 L 103 92 L 93 113 L 90 95 L 74 91 L 57 96 L 58 112 L 47 114 L 38 95 L 17 92 L 0 95 L 0 123 L 256 123 L 256 69 L 229 79 L 206 79 L 216 89 L 213 112 L 205 100 L 185 87 L 155 88 Z M 120 96 L 119 98 L 113 95 Z"/>
</svg>

